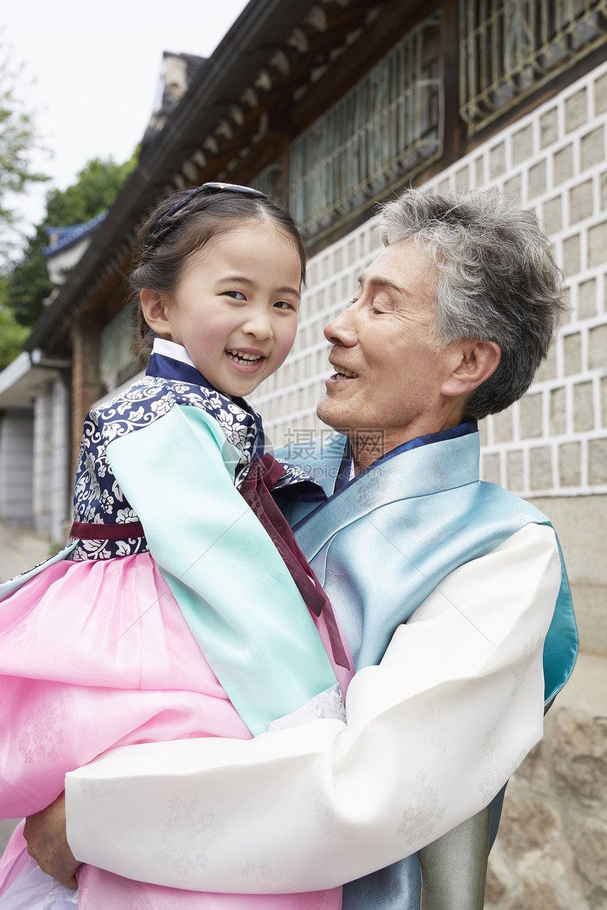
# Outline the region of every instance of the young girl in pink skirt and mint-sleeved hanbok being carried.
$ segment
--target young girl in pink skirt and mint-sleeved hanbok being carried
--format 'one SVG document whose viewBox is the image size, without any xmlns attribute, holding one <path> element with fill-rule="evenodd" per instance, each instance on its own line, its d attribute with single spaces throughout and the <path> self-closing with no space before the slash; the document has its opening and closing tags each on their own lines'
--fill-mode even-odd
<svg viewBox="0 0 607 910">
<path fill-rule="evenodd" d="M 2 818 L 44 808 L 66 771 L 118 745 L 246 738 L 342 712 L 344 644 L 268 488 L 324 494 L 264 456 L 242 399 L 295 339 L 298 230 L 256 190 L 205 184 L 157 207 L 134 262 L 140 343 L 153 343 L 146 376 L 86 418 L 66 549 L 0 587 Z M 196 838 L 204 863 L 213 819 L 195 801 L 167 808 L 157 863 L 187 888 L 180 844 Z M 341 903 L 340 889 L 201 895 L 90 866 L 78 886 L 44 875 L 17 829 L 0 866 L 2 910 Z"/>
</svg>

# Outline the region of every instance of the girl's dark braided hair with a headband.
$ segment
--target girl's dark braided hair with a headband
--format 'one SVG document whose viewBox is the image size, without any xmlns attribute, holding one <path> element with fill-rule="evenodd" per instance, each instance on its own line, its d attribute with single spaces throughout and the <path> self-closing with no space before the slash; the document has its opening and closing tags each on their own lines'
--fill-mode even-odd
<svg viewBox="0 0 607 910">
<path fill-rule="evenodd" d="M 135 340 L 131 347 L 141 367 L 157 338 L 143 316 L 139 295 L 144 288 L 171 297 L 187 268 L 187 259 L 207 243 L 247 224 L 270 224 L 290 240 L 299 254 L 301 282 L 306 279 L 306 250 L 298 226 L 286 207 L 262 196 L 222 192 L 191 198 L 191 189 L 172 193 L 154 207 L 137 230 L 128 284 L 136 308 Z M 183 201 L 183 207 L 178 203 Z M 175 209 L 170 213 L 171 209 Z M 162 218 L 161 228 L 158 222 Z"/>
</svg>

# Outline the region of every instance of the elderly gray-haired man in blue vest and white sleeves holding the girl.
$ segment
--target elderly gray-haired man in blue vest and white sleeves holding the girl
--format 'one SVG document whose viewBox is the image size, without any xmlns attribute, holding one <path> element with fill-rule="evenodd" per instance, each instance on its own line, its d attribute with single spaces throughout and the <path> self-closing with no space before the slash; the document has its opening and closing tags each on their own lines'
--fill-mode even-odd
<svg viewBox="0 0 607 910">
<path fill-rule="evenodd" d="M 377 225 L 386 247 L 326 329 L 318 413 L 339 435 L 286 453 L 328 499 L 281 503 L 349 640 L 348 725 L 108 753 L 67 775 L 78 860 L 207 891 L 349 882 L 344 907 L 417 910 L 419 852 L 541 738 L 575 660 L 571 597 L 548 520 L 480 482 L 476 420 L 529 388 L 559 271 L 535 218 L 494 192 L 411 190 Z M 466 855 L 428 905 L 482 906 Z"/>
</svg>

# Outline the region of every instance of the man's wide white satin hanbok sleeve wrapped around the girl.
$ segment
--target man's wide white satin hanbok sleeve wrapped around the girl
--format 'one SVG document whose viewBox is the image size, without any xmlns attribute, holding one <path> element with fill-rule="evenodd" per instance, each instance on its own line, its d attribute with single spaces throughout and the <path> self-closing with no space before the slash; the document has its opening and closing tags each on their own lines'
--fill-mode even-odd
<svg viewBox="0 0 607 910">
<path fill-rule="evenodd" d="M 350 684 L 348 726 L 128 746 L 66 777 L 76 858 L 203 891 L 313 891 L 435 840 L 491 801 L 542 733 L 561 581 L 529 524 L 453 571 Z"/>
</svg>

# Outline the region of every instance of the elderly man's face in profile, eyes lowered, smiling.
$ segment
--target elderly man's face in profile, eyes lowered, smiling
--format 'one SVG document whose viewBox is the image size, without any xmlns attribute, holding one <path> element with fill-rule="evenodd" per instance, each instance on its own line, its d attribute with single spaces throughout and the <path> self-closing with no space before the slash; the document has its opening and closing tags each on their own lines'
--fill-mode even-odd
<svg viewBox="0 0 607 910">
<path fill-rule="evenodd" d="M 452 357 L 449 345 L 432 342 L 437 279 L 421 248 L 393 243 L 361 275 L 351 306 L 325 329 L 335 373 L 317 413 L 353 442 L 365 430 L 380 430 L 381 448 L 389 451 L 445 429 L 440 389 Z"/>
</svg>

